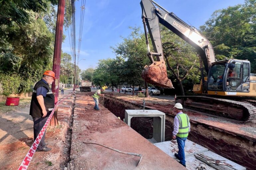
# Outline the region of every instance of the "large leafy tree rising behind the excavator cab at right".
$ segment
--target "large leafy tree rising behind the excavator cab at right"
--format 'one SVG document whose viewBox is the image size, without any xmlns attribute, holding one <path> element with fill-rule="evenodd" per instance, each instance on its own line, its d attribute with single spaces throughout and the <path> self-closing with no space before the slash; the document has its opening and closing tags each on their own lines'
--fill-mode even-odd
<svg viewBox="0 0 256 170">
<path fill-rule="evenodd" d="M 256 73 L 256 0 L 215 11 L 200 29 L 212 43 L 217 59 L 248 59 L 251 72 Z"/>
</svg>

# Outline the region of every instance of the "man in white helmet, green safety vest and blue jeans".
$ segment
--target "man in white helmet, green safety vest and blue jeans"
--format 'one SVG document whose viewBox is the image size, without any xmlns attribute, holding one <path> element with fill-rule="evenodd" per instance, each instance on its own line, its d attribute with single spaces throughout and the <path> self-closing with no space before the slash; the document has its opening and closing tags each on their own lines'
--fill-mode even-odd
<svg viewBox="0 0 256 170">
<path fill-rule="evenodd" d="M 189 132 L 190 132 L 190 122 L 189 122 L 189 116 L 182 112 L 182 104 L 176 103 L 175 106 L 175 112 L 177 115 L 174 118 L 174 128 L 173 128 L 173 137 L 172 139 L 177 139 L 179 152 L 175 153 L 174 155 L 176 158 L 180 160 L 180 164 L 186 167 L 186 160 L 185 160 L 185 141 L 188 138 Z"/>
</svg>

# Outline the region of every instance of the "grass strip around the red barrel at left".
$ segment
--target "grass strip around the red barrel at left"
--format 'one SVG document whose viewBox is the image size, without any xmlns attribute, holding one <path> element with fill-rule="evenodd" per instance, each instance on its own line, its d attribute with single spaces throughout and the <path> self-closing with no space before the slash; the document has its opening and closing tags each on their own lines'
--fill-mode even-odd
<svg viewBox="0 0 256 170">
<path fill-rule="evenodd" d="M 31 97 L 20 98 L 20 102 L 18 106 L 6 106 L 5 101 L 0 102 L 0 116 L 7 113 L 13 112 L 25 107 L 29 107 L 31 102 Z"/>
</svg>

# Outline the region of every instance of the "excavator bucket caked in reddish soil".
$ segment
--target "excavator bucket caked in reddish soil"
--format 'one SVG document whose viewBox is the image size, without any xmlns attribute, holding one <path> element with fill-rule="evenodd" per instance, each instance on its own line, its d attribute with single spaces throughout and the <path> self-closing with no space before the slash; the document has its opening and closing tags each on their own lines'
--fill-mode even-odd
<svg viewBox="0 0 256 170">
<path fill-rule="evenodd" d="M 174 88 L 170 79 L 167 77 L 167 70 L 164 61 L 155 61 L 150 66 L 145 66 L 141 77 L 152 85 L 165 88 Z"/>
</svg>

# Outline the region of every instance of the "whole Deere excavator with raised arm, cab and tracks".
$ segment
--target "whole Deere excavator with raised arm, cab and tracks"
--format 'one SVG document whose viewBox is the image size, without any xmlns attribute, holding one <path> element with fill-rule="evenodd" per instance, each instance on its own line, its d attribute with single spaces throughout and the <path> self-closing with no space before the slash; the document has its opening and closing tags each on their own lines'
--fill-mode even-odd
<svg viewBox="0 0 256 170">
<path fill-rule="evenodd" d="M 185 108 L 228 117 L 240 122 L 256 118 L 256 75 L 250 73 L 247 60 L 215 59 L 211 43 L 196 28 L 189 26 L 174 13 L 168 12 L 153 0 L 142 0 L 142 20 L 151 65 L 141 76 L 148 83 L 173 88 L 167 77 L 161 41 L 161 23 L 191 44 L 198 53 L 201 83 L 193 86 L 194 96 L 177 96 Z M 150 51 L 148 33 L 154 51 Z M 154 61 L 156 58 L 156 61 Z M 207 77 L 204 76 L 206 72 Z"/>
</svg>

